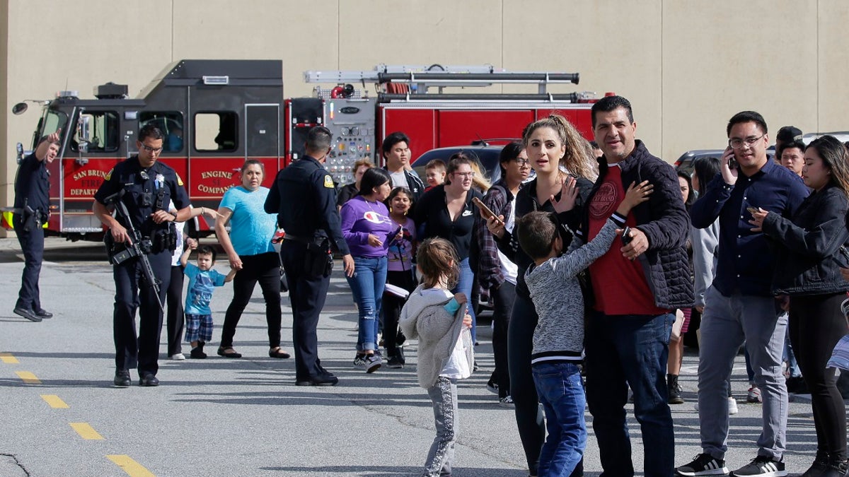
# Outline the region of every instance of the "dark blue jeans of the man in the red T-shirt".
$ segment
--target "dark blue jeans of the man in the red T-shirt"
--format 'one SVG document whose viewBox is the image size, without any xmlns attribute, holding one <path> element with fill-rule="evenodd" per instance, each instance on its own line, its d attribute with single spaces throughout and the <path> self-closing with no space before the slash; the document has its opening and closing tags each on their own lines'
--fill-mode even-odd
<svg viewBox="0 0 849 477">
<path fill-rule="evenodd" d="M 666 361 L 674 321 L 673 314 L 609 316 L 598 311 L 587 319 L 587 402 L 604 475 L 634 474 L 625 420 L 630 385 L 634 418 L 643 434 L 644 475 L 672 476 L 675 434 L 667 403 Z M 704 337 L 703 330 L 702 347 L 706 349 Z"/>
</svg>

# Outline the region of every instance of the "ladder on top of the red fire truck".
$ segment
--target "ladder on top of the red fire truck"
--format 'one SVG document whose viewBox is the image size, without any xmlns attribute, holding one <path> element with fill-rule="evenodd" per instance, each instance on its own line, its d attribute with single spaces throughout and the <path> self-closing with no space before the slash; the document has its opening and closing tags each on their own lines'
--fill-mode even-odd
<svg viewBox="0 0 849 477">
<path fill-rule="evenodd" d="M 578 84 L 579 80 L 580 75 L 578 73 L 507 71 L 496 69 L 492 65 L 377 65 L 371 71 L 309 70 L 304 72 L 304 81 L 308 83 L 345 84 L 347 92 L 353 90 L 350 83 L 359 82 L 363 84 L 363 87 L 365 87 L 366 82 L 373 83 L 375 87 L 379 88 L 380 102 L 481 99 L 577 102 L 582 98 L 587 98 L 587 93 L 548 93 L 548 85 Z M 490 87 L 494 84 L 518 83 L 537 84 L 537 94 L 443 93 L 444 87 Z M 380 90 L 381 86 L 382 91 Z M 439 88 L 439 93 L 429 93 L 431 87 Z"/>
</svg>

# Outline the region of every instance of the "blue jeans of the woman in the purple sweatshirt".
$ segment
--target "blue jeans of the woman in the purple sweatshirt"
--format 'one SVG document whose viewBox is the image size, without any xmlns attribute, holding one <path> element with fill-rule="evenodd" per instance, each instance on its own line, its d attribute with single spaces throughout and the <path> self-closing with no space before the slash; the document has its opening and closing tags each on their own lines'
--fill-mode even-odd
<svg viewBox="0 0 849 477">
<path fill-rule="evenodd" d="M 381 257 L 354 257 L 354 276 L 348 277 L 351 293 L 359 309 L 357 351 L 377 350 L 378 320 L 383 289 L 386 286 L 386 261 Z"/>
</svg>

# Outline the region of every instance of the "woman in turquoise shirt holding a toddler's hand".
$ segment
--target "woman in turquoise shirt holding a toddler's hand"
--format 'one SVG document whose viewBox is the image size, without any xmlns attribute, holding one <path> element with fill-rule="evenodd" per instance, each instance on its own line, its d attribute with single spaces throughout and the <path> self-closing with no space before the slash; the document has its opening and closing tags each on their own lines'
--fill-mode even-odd
<svg viewBox="0 0 849 477">
<path fill-rule="evenodd" d="M 266 302 L 268 356 L 288 358 L 289 353 L 280 349 L 280 257 L 271 243 L 277 230 L 277 216 L 263 209 L 268 188 L 260 185 L 265 167 L 259 160 L 246 160 L 241 173 L 242 185 L 224 194 L 215 223 L 218 241 L 227 253 L 230 267 L 239 271 L 233 279 L 233 301 L 224 315 L 218 356 L 242 357 L 233 350 L 233 335 L 259 282 Z M 224 228 L 228 222 L 229 235 Z"/>
</svg>

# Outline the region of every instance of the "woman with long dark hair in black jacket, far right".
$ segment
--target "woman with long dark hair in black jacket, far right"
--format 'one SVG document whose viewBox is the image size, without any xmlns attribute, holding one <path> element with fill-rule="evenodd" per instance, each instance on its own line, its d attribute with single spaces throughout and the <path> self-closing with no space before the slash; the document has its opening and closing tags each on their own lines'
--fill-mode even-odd
<svg viewBox="0 0 849 477">
<path fill-rule="evenodd" d="M 806 477 L 846 474 L 846 404 L 837 390 L 835 368 L 826 368 L 837 341 L 846 334 L 841 302 L 849 283 L 839 252 L 849 242 L 849 153 L 832 136 L 814 139 L 805 149 L 802 179 L 812 189 L 790 219 L 769 210 L 752 212 L 750 221 L 776 245 L 773 293 L 790 295 L 790 344 L 811 391 L 817 457 Z"/>
</svg>

